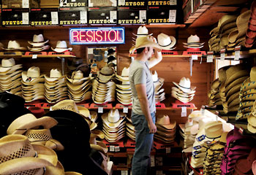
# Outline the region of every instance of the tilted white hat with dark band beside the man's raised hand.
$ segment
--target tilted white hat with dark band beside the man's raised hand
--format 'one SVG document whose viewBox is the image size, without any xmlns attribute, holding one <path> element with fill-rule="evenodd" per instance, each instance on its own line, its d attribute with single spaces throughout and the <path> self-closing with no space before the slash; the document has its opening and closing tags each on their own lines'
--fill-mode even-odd
<svg viewBox="0 0 256 175">
<path fill-rule="evenodd" d="M 173 50 L 175 48 L 176 39 L 173 36 L 168 36 L 167 34 L 159 34 L 157 35 L 157 42 L 162 50 Z"/>
</svg>

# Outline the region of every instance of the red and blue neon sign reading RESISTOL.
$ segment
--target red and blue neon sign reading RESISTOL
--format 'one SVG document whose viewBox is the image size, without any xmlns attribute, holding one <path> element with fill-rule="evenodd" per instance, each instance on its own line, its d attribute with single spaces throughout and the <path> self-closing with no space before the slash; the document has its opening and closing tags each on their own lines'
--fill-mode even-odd
<svg viewBox="0 0 256 175">
<path fill-rule="evenodd" d="M 124 27 L 69 28 L 70 44 L 124 44 Z"/>
</svg>

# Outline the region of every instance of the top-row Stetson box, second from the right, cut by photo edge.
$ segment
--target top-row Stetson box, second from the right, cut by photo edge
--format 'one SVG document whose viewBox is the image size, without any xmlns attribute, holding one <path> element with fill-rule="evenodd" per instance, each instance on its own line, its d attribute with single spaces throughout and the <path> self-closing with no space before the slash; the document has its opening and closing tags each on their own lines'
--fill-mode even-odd
<svg viewBox="0 0 256 175">
<path fill-rule="evenodd" d="M 118 7 L 125 7 L 126 9 L 147 9 L 147 0 L 118 0 Z"/>
</svg>

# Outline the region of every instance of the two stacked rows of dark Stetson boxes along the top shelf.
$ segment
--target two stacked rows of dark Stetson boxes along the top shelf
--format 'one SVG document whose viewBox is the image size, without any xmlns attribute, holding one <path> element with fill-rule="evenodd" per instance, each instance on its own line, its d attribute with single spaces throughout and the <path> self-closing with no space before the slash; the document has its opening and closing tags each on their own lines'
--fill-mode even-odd
<svg viewBox="0 0 256 175">
<path fill-rule="evenodd" d="M 22 3 L 2 1 L 2 26 L 79 26 L 181 24 L 180 1 L 46 1 Z M 157 15 L 156 15 L 157 14 Z"/>
</svg>

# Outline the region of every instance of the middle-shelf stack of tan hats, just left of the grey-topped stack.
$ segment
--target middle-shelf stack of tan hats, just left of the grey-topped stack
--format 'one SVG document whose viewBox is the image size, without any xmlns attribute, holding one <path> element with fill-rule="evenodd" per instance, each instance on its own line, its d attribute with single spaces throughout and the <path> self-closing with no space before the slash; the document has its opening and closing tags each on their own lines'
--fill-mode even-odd
<svg viewBox="0 0 256 175">
<path fill-rule="evenodd" d="M 83 72 L 73 71 L 72 77 L 67 77 L 67 92 L 70 99 L 79 103 L 91 98 L 91 79 L 83 77 Z"/>
</svg>

